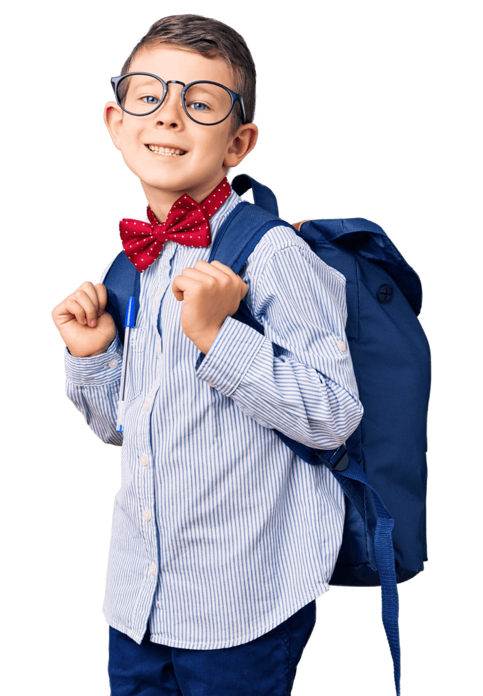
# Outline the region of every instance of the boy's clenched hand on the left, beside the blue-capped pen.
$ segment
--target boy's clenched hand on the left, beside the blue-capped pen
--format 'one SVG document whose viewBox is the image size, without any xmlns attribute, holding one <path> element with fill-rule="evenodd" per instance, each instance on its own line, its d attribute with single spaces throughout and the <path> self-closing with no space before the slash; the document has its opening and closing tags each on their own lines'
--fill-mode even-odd
<svg viewBox="0 0 483 696">
<path fill-rule="evenodd" d="M 52 319 L 70 354 L 86 358 L 105 353 L 114 338 L 116 324 L 104 308 L 105 285 L 88 280 L 52 310 Z"/>
</svg>

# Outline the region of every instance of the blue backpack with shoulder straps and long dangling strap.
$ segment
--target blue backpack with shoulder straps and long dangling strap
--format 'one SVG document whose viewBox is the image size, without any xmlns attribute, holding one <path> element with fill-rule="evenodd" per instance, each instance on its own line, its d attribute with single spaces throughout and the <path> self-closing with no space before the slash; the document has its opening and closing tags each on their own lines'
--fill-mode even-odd
<svg viewBox="0 0 483 696">
<path fill-rule="evenodd" d="M 254 204 L 239 203 L 216 234 L 209 261 L 236 274 L 265 232 L 294 228 L 278 217 L 274 193 L 246 174 L 232 188 L 253 190 Z M 418 320 L 419 276 L 386 232 L 363 218 L 311 220 L 297 234 L 328 266 L 346 278 L 347 326 L 364 416 L 345 446 L 312 450 L 275 431 L 308 464 L 328 466 L 345 493 L 342 546 L 330 585 L 381 586 L 382 622 L 400 695 L 397 583 L 424 570 L 427 561 L 427 413 L 431 353 Z M 106 310 L 124 340 L 130 296 L 135 315 L 140 274 L 122 251 L 104 279 Z M 242 301 L 235 319 L 264 333 Z"/>
</svg>

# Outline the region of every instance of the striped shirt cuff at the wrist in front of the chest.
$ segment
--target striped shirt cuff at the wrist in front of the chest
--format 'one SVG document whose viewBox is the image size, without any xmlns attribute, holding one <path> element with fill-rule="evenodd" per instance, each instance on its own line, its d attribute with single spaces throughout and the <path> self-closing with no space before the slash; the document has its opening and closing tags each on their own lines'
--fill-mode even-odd
<svg viewBox="0 0 483 696">
<path fill-rule="evenodd" d="M 226 317 L 207 354 L 196 363 L 196 377 L 230 396 L 267 339 L 251 326 Z"/>
</svg>

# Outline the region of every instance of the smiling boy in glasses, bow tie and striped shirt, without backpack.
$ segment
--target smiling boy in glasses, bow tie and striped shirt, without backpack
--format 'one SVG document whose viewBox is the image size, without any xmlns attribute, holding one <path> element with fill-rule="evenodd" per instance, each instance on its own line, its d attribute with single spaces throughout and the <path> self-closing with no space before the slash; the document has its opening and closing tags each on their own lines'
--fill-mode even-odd
<svg viewBox="0 0 483 696">
<path fill-rule="evenodd" d="M 285 695 L 345 505 L 330 471 L 273 431 L 329 449 L 361 420 L 345 278 L 283 227 L 242 277 L 207 263 L 240 200 L 226 176 L 258 137 L 241 35 L 165 17 L 113 84 L 106 127 L 149 204 L 145 223 L 120 223 L 142 271 L 122 434 L 122 345 L 104 285 L 84 283 L 52 312 L 68 397 L 102 441 L 122 445 L 103 607 L 111 694 Z M 242 299 L 264 336 L 232 319 Z"/>
</svg>

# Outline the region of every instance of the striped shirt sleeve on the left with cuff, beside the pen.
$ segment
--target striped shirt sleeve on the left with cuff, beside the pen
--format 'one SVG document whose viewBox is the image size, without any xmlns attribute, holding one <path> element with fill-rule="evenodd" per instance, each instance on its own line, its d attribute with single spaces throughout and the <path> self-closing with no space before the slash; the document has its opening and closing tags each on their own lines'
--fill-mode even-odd
<svg viewBox="0 0 483 696">
<path fill-rule="evenodd" d="M 77 358 L 65 347 L 65 394 L 102 442 L 122 445 L 116 432 L 122 345 L 118 333 L 105 353 Z"/>
</svg>

